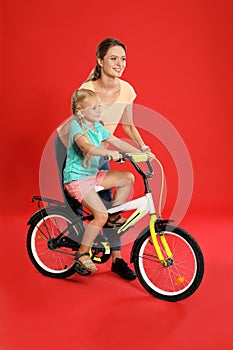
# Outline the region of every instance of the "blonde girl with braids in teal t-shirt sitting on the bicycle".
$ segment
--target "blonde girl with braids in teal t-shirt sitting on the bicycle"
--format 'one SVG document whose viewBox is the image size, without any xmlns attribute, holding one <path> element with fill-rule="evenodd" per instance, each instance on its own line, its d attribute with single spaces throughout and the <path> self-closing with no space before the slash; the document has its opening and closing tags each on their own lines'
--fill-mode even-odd
<svg viewBox="0 0 233 350">
<path fill-rule="evenodd" d="M 67 160 L 64 169 L 64 187 L 68 193 L 89 209 L 94 219 L 87 226 L 76 254 L 76 261 L 86 270 L 97 270 L 90 259 L 91 243 L 108 221 L 107 210 L 95 191 L 95 186 L 104 189 L 116 187 L 113 206 L 126 201 L 134 183 L 130 172 L 98 170 L 99 159 L 109 156 L 118 160 L 118 151 L 111 151 L 101 147 L 107 141 L 124 152 L 140 152 L 130 144 L 111 135 L 110 131 L 100 123 L 101 107 L 96 93 L 88 89 L 76 90 L 72 97 L 74 119 L 70 125 L 70 140 L 67 149 Z M 114 220 L 114 217 L 111 219 Z M 110 221 L 111 224 L 112 220 Z M 124 222 L 120 218 L 116 224 Z"/>
</svg>

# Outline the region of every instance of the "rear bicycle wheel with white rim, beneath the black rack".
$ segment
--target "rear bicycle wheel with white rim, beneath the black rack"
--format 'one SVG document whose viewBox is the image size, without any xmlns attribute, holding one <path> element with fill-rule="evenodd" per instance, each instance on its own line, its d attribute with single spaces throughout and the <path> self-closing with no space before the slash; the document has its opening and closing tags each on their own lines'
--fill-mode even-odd
<svg viewBox="0 0 233 350">
<path fill-rule="evenodd" d="M 72 224 L 74 220 L 75 224 Z M 61 232 L 65 237 L 79 240 L 84 232 L 83 222 L 58 207 L 41 209 L 30 220 L 28 255 L 35 268 L 48 277 L 66 278 L 76 272 L 72 249 L 53 244 L 53 239 Z"/>
</svg>

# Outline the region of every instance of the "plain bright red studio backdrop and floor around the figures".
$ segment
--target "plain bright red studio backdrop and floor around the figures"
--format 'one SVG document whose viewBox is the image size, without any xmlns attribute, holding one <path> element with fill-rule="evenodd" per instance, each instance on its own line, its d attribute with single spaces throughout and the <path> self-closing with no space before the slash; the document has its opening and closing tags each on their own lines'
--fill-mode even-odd
<svg viewBox="0 0 233 350">
<path fill-rule="evenodd" d="M 46 293 L 51 292 L 52 297 L 52 290 L 59 287 L 57 282 L 38 276 L 26 257 L 26 221 L 35 210 L 30 198 L 39 192 L 38 169 L 45 143 L 55 128 L 70 115 L 71 94 L 95 65 L 97 44 L 108 36 L 117 37 L 127 44 L 128 66 L 123 78 L 134 86 L 138 95 L 136 102 L 165 116 L 178 130 L 190 152 L 195 185 L 183 226 L 196 232 L 207 266 L 205 283 L 200 292 L 190 301 L 179 304 L 184 319 L 180 327 L 176 325 L 177 329 L 173 327 L 181 312 L 178 306 L 145 297 L 139 285 L 137 291 L 135 289 L 135 297 L 134 288 L 132 290 L 129 285 L 126 287 L 124 282 L 114 279 L 115 283 L 119 283 L 119 289 L 122 288 L 122 293 L 126 293 L 126 300 L 135 297 L 137 303 L 132 306 L 132 319 L 129 316 L 131 310 L 127 310 L 127 323 L 122 321 L 114 308 L 108 309 L 106 317 L 110 317 L 110 321 L 117 320 L 113 321 L 113 329 L 108 333 L 111 339 L 108 339 L 114 339 L 116 328 L 119 326 L 121 329 L 123 322 L 126 332 L 132 334 L 132 339 L 129 334 L 127 337 L 135 349 L 137 344 L 143 346 L 138 338 L 138 324 L 146 324 L 149 327 L 147 330 L 151 330 L 145 333 L 145 344 L 153 348 L 154 336 L 161 335 L 162 338 L 157 339 L 158 349 L 167 349 L 171 344 L 180 349 L 193 349 L 201 345 L 205 345 L 206 349 L 209 346 L 217 349 L 219 344 L 230 344 L 228 328 L 221 328 L 217 319 L 227 320 L 228 307 L 232 305 L 232 286 L 226 278 L 226 269 L 229 274 L 232 273 L 229 247 L 232 242 L 229 226 L 232 213 L 232 9 L 232 2 L 228 0 L 146 0 L 142 3 L 105 0 L 88 3 L 76 0 L 1 1 L 1 266 L 4 277 L 1 304 L 4 350 L 16 346 L 30 348 L 30 342 L 34 342 L 35 337 L 37 342 L 33 345 L 34 349 L 42 344 L 47 344 L 47 347 L 43 346 L 49 349 L 52 344 L 43 333 L 45 329 L 39 326 L 38 317 L 48 318 L 53 323 L 57 311 L 53 313 L 46 305 L 38 316 L 33 308 L 37 310 L 38 300 L 40 307 L 43 305 L 40 297 L 45 298 L 45 290 Z M 223 237 L 227 239 L 225 243 Z M 221 249 L 220 252 L 217 247 Z M 10 275 L 6 269 L 11 272 Z M 26 294 L 19 291 L 23 285 L 27 288 Z M 38 286 L 40 294 L 32 285 Z M 100 288 L 100 285 L 95 287 Z M 69 283 L 60 285 L 67 298 L 71 287 L 74 290 L 79 288 Z M 105 295 L 109 305 L 110 289 L 108 291 L 107 288 Z M 224 296 L 225 290 L 227 295 Z M 33 300 L 31 293 L 36 295 L 36 300 Z M 119 299 L 113 302 L 121 302 L 121 295 L 117 294 Z M 93 295 L 86 290 L 83 290 L 81 297 L 83 304 L 86 297 L 91 298 L 92 310 L 98 314 L 94 317 L 96 336 L 100 323 L 103 322 L 103 325 L 106 322 L 103 316 L 99 316 L 101 306 L 96 311 L 100 300 L 93 299 Z M 221 298 L 222 302 L 219 301 Z M 209 304 L 203 311 L 201 306 L 206 299 Z M 31 306 L 30 310 L 26 306 L 24 314 L 23 305 L 28 303 L 27 300 L 30 300 Z M 126 300 L 122 304 L 122 317 Z M 74 298 L 73 305 L 78 302 Z M 69 320 L 67 310 L 70 308 L 71 304 L 67 308 L 63 305 L 61 309 L 66 327 L 67 321 L 72 327 L 74 323 L 81 324 L 80 334 L 84 332 L 83 338 L 88 338 L 92 334 L 92 326 L 88 323 L 92 310 L 85 313 L 82 306 L 81 311 L 72 311 Z M 144 315 L 140 319 L 137 319 L 137 310 Z M 194 315 L 193 320 L 189 318 L 190 312 Z M 201 327 L 199 318 L 203 314 L 206 319 Z M 167 324 L 169 315 L 174 322 Z M 152 323 L 157 329 L 160 317 L 164 327 L 160 323 L 158 334 L 155 334 Z M 132 320 L 136 319 L 137 334 L 134 334 L 135 323 Z M 204 326 L 210 320 L 213 323 L 208 326 L 209 333 L 204 335 Z M 52 326 L 56 326 L 56 332 L 60 334 L 59 324 L 56 323 L 47 325 L 47 332 Z M 60 326 L 64 324 L 61 322 Z M 33 333 L 36 327 L 39 333 Z M 169 327 L 173 328 L 171 343 Z M 11 338 L 15 328 L 18 331 Z M 128 348 L 126 345 L 124 347 L 127 341 L 124 336 L 120 338 L 120 332 L 117 331 L 115 343 L 121 342 L 122 348 Z M 200 337 L 194 338 L 190 344 L 190 334 L 196 332 Z M 72 328 L 74 333 L 78 334 L 78 329 Z M 79 339 L 81 345 L 77 348 L 89 350 L 90 339 Z M 73 337 L 72 344 L 75 341 Z M 55 340 L 54 344 L 57 349 L 65 349 L 65 336 L 61 336 L 60 342 Z"/>
</svg>

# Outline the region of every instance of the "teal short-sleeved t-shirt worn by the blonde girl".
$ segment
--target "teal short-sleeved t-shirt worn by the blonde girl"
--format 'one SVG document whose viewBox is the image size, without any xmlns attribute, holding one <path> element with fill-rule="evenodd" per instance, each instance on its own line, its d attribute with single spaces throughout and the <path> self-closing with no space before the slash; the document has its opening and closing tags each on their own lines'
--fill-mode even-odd
<svg viewBox="0 0 233 350">
<path fill-rule="evenodd" d="M 99 122 L 94 122 L 95 130 L 90 129 L 85 124 L 84 128 L 87 130 L 89 141 L 96 147 L 100 147 L 101 142 L 110 136 L 110 131 Z M 64 169 L 65 184 L 93 176 L 98 172 L 99 156 L 93 156 L 89 166 L 83 165 L 83 153 L 74 141 L 74 137 L 79 134 L 85 136 L 85 133 L 77 120 L 73 120 L 70 124 L 70 140 L 67 148 L 66 166 Z"/>
</svg>

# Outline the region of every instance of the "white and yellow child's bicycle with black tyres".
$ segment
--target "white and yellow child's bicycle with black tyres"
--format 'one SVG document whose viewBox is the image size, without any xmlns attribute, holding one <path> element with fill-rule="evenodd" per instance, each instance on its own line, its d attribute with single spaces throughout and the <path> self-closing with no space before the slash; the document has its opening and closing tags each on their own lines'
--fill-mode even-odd
<svg viewBox="0 0 233 350">
<path fill-rule="evenodd" d="M 109 214 L 134 211 L 122 226 L 103 228 L 91 246 L 90 256 L 97 264 L 105 263 L 110 258 L 114 240 L 149 214 L 149 226 L 134 241 L 130 255 L 138 280 L 147 292 L 158 299 L 175 302 L 188 298 L 198 289 L 203 278 L 202 251 L 188 232 L 171 225 L 173 220 L 162 219 L 162 190 L 159 215 L 156 215 L 148 181 L 153 177 L 154 169 L 148 156 L 121 153 L 121 157 L 121 161 L 130 161 L 141 175 L 145 193 L 108 209 Z M 139 166 L 142 161 L 149 172 L 144 172 Z M 162 165 L 157 162 L 164 176 Z M 39 207 L 27 223 L 27 251 L 32 264 L 48 277 L 67 278 L 77 272 L 85 274 L 74 262 L 74 255 L 84 233 L 84 222 L 92 220 L 92 214 L 82 209 L 83 215 L 77 216 L 67 204 L 45 197 L 33 196 L 32 201 L 37 201 Z M 46 207 L 41 208 L 42 201 L 47 203 Z"/>
</svg>

